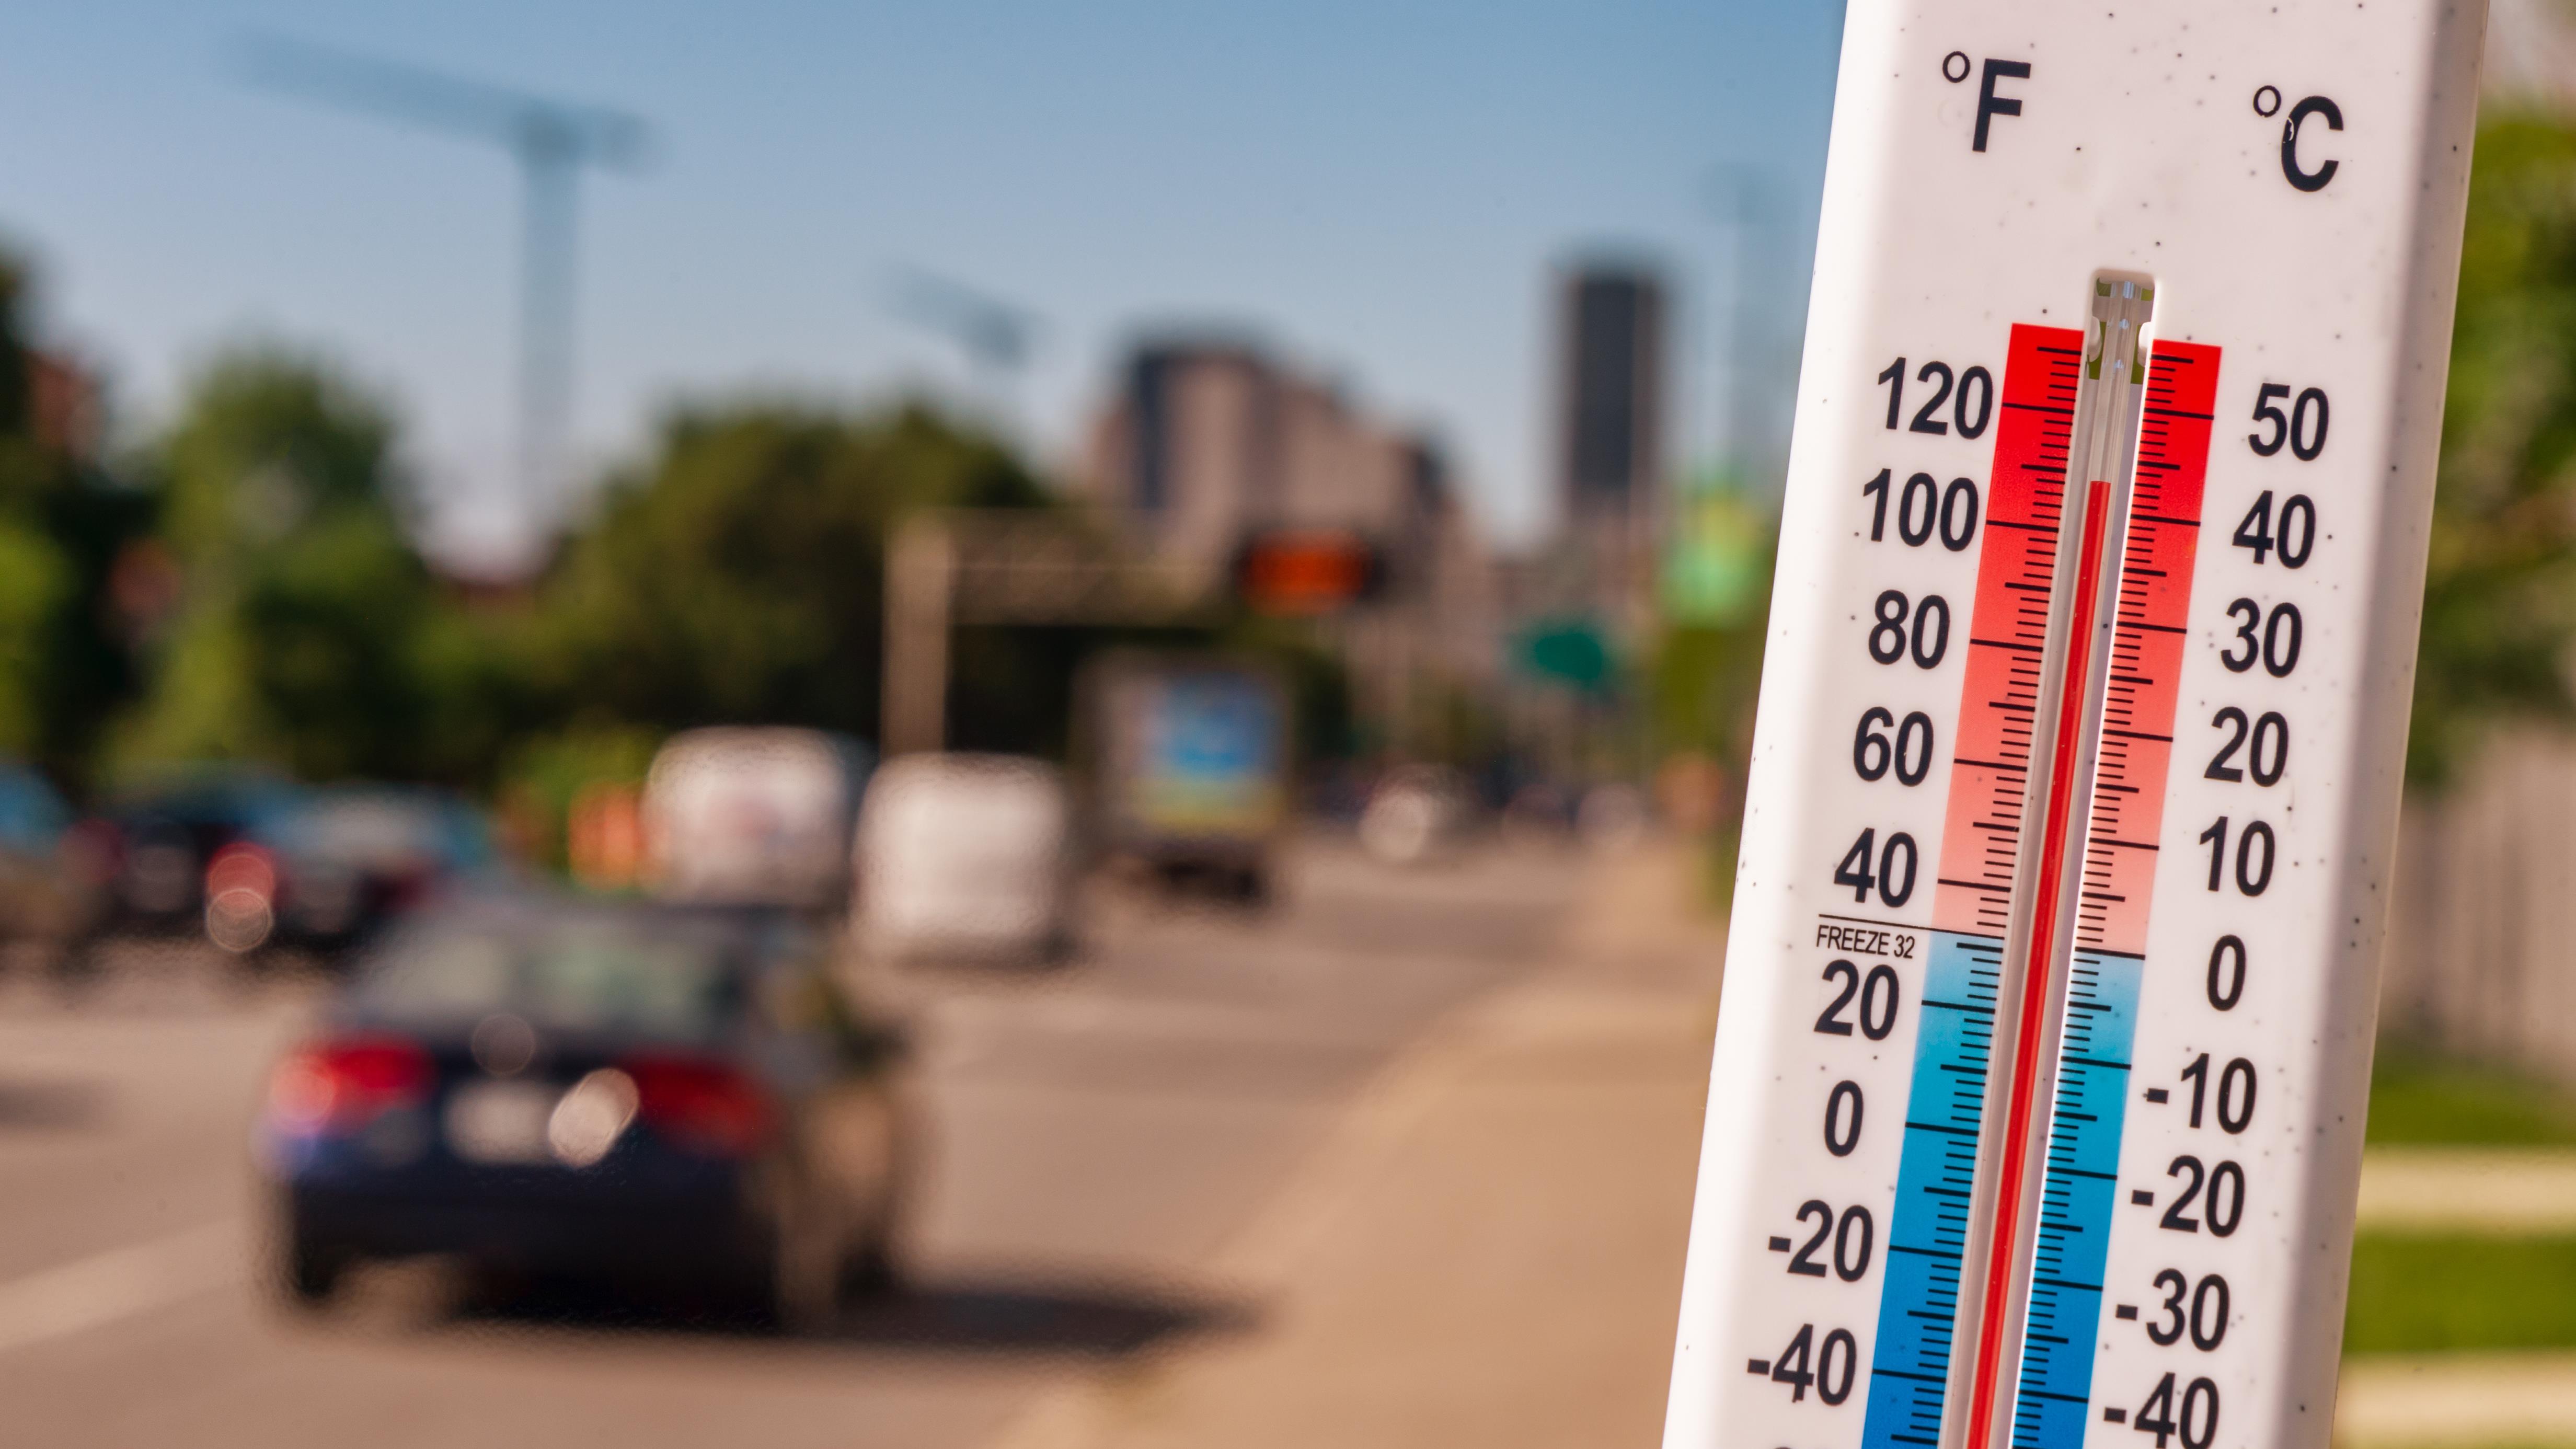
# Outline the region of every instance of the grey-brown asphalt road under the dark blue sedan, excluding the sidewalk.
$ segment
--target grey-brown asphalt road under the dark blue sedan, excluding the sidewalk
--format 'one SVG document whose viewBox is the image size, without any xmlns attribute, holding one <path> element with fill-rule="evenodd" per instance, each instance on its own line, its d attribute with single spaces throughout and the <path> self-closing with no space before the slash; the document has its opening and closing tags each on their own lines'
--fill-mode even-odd
<svg viewBox="0 0 2576 1449">
<path fill-rule="evenodd" d="M 1198 1266 L 1445 1008 L 1540 962 L 1574 869 L 1311 846 L 1267 918 L 1108 902 L 1051 975 L 914 972 L 935 1160 L 912 1287 L 811 1338 L 469 1302 L 428 1266 L 325 1318 L 252 1279 L 247 1122 L 307 1011 L 129 951 L 77 1006 L 0 982 L 0 1441 L 989 1439 L 1066 1374 L 1265 1305 Z"/>
</svg>

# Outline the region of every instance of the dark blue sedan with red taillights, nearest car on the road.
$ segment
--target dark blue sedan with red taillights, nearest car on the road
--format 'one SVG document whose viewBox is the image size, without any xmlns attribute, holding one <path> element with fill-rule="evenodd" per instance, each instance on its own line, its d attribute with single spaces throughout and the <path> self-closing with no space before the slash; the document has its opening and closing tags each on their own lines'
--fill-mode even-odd
<svg viewBox="0 0 2576 1449">
<path fill-rule="evenodd" d="M 902 1057 L 778 915 L 433 905 L 270 1075 L 281 1289 L 448 1253 L 827 1320 L 894 1279 Z"/>
</svg>

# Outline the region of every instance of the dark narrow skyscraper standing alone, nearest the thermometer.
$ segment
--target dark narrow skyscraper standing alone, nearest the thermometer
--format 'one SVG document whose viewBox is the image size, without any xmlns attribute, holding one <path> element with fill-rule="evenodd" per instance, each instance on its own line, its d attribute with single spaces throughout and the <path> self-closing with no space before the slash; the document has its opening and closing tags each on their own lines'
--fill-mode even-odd
<svg viewBox="0 0 2576 1449">
<path fill-rule="evenodd" d="M 1664 284 L 1638 266 L 1582 266 L 1558 327 L 1566 518 L 1633 516 L 1664 467 Z"/>
</svg>

